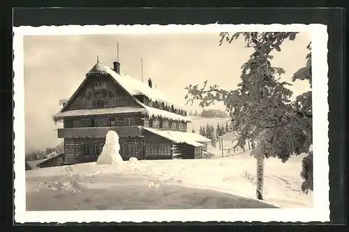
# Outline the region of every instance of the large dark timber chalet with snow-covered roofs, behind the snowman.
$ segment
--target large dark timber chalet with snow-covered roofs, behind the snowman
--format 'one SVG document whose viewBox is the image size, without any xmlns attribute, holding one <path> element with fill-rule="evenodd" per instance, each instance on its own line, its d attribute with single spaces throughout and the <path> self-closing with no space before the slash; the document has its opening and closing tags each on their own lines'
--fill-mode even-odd
<svg viewBox="0 0 349 232">
<path fill-rule="evenodd" d="M 166 100 L 158 89 L 97 61 L 53 116 L 64 127 L 57 130 L 64 139 L 65 164 L 95 162 L 105 144 L 107 131 L 119 134 L 124 160 L 201 158 L 209 139 L 187 132 L 187 112 Z"/>
</svg>

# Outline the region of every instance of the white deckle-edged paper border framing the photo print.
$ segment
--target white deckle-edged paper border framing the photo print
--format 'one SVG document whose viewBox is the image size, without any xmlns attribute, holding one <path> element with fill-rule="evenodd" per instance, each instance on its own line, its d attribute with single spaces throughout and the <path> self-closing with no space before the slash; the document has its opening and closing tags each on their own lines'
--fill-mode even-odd
<svg viewBox="0 0 349 232">
<path fill-rule="evenodd" d="M 207 25 L 68 25 L 14 27 L 14 171 L 15 222 L 328 222 L 329 163 L 327 102 L 327 26 L 322 24 L 207 24 Z M 222 31 L 295 31 L 311 35 L 313 78 L 313 208 L 205 210 L 70 210 L 26 211 L 24 160 L 24 36 L 77 34 L 160 34 Z M 135 217 L 137 215 L 137 217 Z"/>
</svg>

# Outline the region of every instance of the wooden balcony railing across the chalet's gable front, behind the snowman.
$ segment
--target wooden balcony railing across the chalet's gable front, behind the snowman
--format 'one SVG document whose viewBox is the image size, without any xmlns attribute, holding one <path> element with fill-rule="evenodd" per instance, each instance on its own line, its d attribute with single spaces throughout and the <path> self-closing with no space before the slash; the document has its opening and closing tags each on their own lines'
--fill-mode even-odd
<svg viewBox="0 0 349 232">
<path fill-rule="evenodd" d="M 58 129 L 58 137 L 61 138 L 78 138 L 78 137 L 105 137 L 108 131 L 114 130 L 119 137 L 142 136 L 142 127 L 73 127 Z"/>
</svg>

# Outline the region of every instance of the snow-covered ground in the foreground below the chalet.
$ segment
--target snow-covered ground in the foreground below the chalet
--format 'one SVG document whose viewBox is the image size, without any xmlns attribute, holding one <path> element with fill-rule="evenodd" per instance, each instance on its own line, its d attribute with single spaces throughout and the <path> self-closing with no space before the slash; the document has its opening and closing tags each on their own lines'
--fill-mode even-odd
<svg viewBox="0 0 349 232">
<path fill-rule="evenodd" d="M 265 160 L 265 201 L 257 201 L 249 153 L 26 171 L 27 210 L 312 207 L 312 193 L 300 190 L 302 156 Z"/>
</svg>

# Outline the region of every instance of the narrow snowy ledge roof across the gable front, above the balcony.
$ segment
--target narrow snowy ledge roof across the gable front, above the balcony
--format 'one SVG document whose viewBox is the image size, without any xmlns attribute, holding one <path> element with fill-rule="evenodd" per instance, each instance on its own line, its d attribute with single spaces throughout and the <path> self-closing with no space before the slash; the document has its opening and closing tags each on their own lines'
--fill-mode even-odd
<svg viewBox="0 0 349 232">
<path fill-rule="evenodd" d="M 117 107 L 117 108 L 103 108 L 103 109 L 76 109 L 61 112 L 52 116 L 54 120 L 64 118 L 64 117 L 73 117 L 73 116 L 87 116 L 87 115 L 98 115 L 98 114 L 122 114 L 122 113 L 136 113 L 144 112 L 145 109 L 141 107 Z"/>
</svg>

